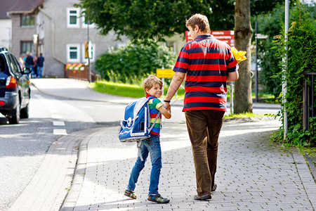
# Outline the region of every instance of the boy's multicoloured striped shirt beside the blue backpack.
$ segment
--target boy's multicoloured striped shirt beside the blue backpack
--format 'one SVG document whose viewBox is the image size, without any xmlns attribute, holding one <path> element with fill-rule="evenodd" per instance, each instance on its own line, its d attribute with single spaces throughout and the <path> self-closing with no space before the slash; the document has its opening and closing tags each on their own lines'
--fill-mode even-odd
<svg viewBox="0 0 316 211">
<path fill-rule="evenodd" d="M 147 98 L 149 96 L 151 96 L 151 95 L 149 95 L 149 94 L 146 95 Z M 162 102 L 156 97 L 151 98 L 148 101 L 148 105 L 150 107 L 150 127 L 151 127 L 152 124 L 154 124 L 154 120 L 156 120 L 157 115 L 159 114 L 158 109 L 163 105 L 162 105 Z M 161 125 L 160 120 L 161 119 L 162 119 L 162 114 L 160 113 L 159 118 L 157 118 L 157 121 L 154 124 L 154 127 L 152 127 L 152 131 L 150 132 L 151 134 L 154 134 L 157 136 L 160 135 L 160 125 Z"/>
</svg>

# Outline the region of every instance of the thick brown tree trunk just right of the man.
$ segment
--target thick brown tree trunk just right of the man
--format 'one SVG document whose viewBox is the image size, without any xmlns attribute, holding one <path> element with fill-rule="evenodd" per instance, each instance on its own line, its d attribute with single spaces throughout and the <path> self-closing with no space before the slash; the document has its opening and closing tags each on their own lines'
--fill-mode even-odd
<svg viewBox="0 0 316 211">
<path fill-rule="evenodd" d="M 239 63 L 239 79 L 235 82 L 234 113 L 252 113 L 251 94 L 251 37 L 249 0 L 235 4 L 235 48 L 246 51 L 246 60 Z"/>
</svg>

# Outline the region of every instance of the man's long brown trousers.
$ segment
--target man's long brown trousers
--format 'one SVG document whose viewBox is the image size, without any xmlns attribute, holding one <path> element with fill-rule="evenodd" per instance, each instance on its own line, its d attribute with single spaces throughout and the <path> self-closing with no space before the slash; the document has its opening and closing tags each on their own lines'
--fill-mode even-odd
<svg viewBox="0 0 316 211">
<path fill-rule="evenodd" d="M 185 111 L 199 196 L 211 194 L 211 188 L 214 185 L 218 136 L 223 125 L 224 115 L 225 111 L 220 110 Z"/>
</svg>

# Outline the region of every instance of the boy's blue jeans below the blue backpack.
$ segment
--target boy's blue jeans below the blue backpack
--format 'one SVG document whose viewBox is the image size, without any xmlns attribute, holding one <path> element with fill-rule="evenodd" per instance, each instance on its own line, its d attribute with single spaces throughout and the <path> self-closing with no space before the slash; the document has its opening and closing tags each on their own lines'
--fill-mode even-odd
<svg viewBox="0 0 316 211">
<path fill-rule="evenodd" d="M 150 173 L 150 188 L 149 195 L 158 194 L 158 184 L 160 177 L 160 170 L 162 169 L 162 148 L 160 148 L 159 136 L 150 134 L 150 138 L 140 143 L 140 153 L 143 156 L 143 161 L 138 156 L 136 163 L 129 177 L 129 190 L 134 191 L 138 181 L 141 170 L 145 167 L 145 162 L 150 153 L 150 160 L 152 161 L 152 172 Z"/>
</svg>

